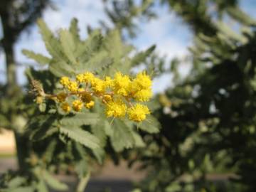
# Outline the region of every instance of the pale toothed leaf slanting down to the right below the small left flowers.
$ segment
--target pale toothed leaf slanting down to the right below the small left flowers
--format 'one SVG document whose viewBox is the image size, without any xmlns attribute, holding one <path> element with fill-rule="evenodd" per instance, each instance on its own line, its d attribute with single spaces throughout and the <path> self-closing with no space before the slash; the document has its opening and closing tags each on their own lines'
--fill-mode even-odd
<svg viewBox="0 0 256 192">
<path fill-rule="evenodd" d="M 90 132 L 81 129 L 80 127 L 60 127 L 60 133 L 65 134 L 75 142 L 83 144 L 91 149 L 100 147 L 100 140 Z"/>
</svg>

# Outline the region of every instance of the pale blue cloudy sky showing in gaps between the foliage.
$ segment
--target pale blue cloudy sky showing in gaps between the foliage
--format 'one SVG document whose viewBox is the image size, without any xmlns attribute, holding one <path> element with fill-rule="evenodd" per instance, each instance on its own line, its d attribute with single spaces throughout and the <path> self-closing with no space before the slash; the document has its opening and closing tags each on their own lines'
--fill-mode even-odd
<svg viewBox="0 0 256 192">
<path fill-rule="evenodd" d="M 103 11 L 102 1 L 98 0 L 63 0 L 56 1 L 58 10 L 47 9 L 43 14 L 43 19 L 48 26 L 57 31 L 58 28 L 68 28 L 70 20 L 73 17 L 78 18 L 80 26 L 80 34 L 82 38 L 86 37 L 86 26 L 99 26 L 99 20 L 107 21 L 107 16 Z M 61 2 L 61 4 L 58 4 Z M 256 18 L 256 0 L 242 0 L 242 9 Z M 152 44 L 156 44 L 156 51 L 161 55 L 166 55 L 169 60 L 174 56 L 186 55 L 188 46 L 192 43 L 192 34 L 181 18 L 170 13 L 167 6 L 155 6 L 156 13 L 159 18 L 153 21 L 140 23 L 140 29 L 137 38 L 130 42 L 137 47 L 138 50 L 144 50 Z M 1 33 L 0 33 L 1 34 Z M 1 35 L 0 35 L 1 36 Z M 33 60 L 27 59 L 21 54 L 23 48 L 33 50 L 37 53 L 48 55 L 44 48 L 41 36 L 38 33 L 37 26 L 33 26 L 29 33 L 23 33 L 15 46 L 15 56 L 18 63 L 18 82 L 23 84 L 26 78 L 23 71 L 28 64 L 33 64 Z M 5 59 L 0 53 L 0 82 L 5 81 Z M 188 66 L 183 66 L 183 72 L 188 71 Z M 154 92 L 161 92 L 170 83 L 170 75 L 163 75 L 161 78 L 154 80 Z"/>
</svg>

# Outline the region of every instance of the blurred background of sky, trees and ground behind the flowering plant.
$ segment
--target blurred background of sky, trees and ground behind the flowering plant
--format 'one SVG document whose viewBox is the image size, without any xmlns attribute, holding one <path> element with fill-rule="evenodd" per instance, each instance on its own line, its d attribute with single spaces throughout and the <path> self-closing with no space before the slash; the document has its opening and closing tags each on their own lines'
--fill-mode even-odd
<svg viewBox="0 0 256 192">
<path fill-rule="evenodd" d="M 255 191 L 255 9 L 255 0 L 1 0 L 0 174 L 18 169 L 26 68 L 44 68 L 22 50 L 49 55 L 36 19 L 58 33 L 78 18 L 81 38 L 119 28 L 137 51 L 156 46 L 132 71 L 154 71 L 154 115 L 162 127 L 142 134 L 147 147 L 135 158 L 107 161 L 88 190 Z"/>
</svg>

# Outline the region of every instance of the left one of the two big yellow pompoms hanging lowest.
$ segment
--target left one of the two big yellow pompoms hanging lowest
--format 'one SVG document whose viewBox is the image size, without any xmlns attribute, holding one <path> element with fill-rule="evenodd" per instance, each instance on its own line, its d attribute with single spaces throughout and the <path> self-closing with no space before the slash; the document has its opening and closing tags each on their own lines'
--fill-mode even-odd
<svg viewBox="0 0 256 192">
<path fill-rule="evenodd" d="M 110 101 L 106 105 L 107 117 L 124 117 L 127 106 L 122 100 Z"/>
</svg>

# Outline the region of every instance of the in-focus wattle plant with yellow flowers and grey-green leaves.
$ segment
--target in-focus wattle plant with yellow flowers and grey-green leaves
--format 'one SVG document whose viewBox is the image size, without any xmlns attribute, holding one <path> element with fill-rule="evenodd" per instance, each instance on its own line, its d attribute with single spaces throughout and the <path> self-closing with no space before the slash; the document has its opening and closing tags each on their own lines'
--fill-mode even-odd
<svg viewBox="0 0 256 192">
<path fill-rule="evenodd" d="M 24 128 L 33 161 L 29 175 L 7 174 L 5 183 L 22 182 L 4 185 L 4 190 L 67 190 L 50 174 L 71 171 L 80 180 L 76 191 L 85 191 L 95 164 L 103 164 L 106 156 L 117 159 L 126 149 L 146 146 L 141 132 L 159 132 L 159 122 L 151 114 L 158 103 L 151 100 L 152 82 L 146 73 L 150 70 L 131 73 L 146 63 L 154 46 L 136 52 L 122 41 L 118 29 L 103 34 L 93 30 L 82 40 L 76 19 L 70 28 L 56 33 L 42 20 L 38 26 L 48 55 L 23 50 L 44 65 L 26 73 L 38 104 L 31 106 Z"/>
</svg>

